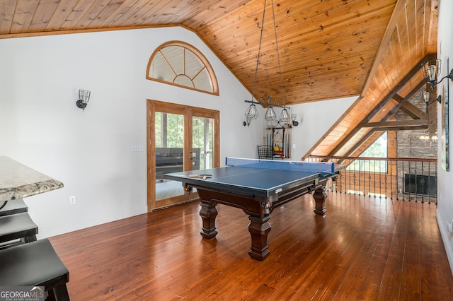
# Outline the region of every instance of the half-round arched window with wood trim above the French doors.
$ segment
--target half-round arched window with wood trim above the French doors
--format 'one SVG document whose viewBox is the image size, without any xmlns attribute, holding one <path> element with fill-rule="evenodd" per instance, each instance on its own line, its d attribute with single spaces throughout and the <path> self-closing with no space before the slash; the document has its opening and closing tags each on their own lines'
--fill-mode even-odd
<svg viewBox="0 0 453 301">
<path fill-rule="evenodd" d="M 171 41 L 159 46 L 149 58 L 147 79 L 219 95 L 209 61 L 185 42 Z"/>
</svg>

